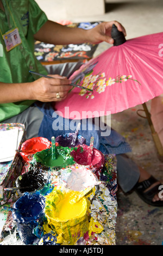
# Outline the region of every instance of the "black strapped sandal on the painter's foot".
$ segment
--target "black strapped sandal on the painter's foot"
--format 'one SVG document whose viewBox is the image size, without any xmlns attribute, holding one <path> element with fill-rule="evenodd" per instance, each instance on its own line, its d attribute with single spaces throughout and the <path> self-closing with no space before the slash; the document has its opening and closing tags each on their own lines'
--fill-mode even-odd
<svg viewBox="0 0 163 256">
<path fill-rule="evenodd" d="M 152 187 L 151 190 L 144 192 L 148 187 L 150 187 L 155 182 L 158 182 L 158 180 L 156 180 L 153 176 L 151 176 L 149 179 L 145 181 L 137 182 L 137 184 L 134 187 L 134 190 L 145 203 L 159 207 L 159 206 L 163 206 L 163 201 L 159 200 L 159 201 L 153 202 L 152 199 L 155 196 L 155 194 L 158 194 L 158 192 L 161 191 L 159 190 L 159 186 L 161 185 L 161 183 Z"/>
</svg>

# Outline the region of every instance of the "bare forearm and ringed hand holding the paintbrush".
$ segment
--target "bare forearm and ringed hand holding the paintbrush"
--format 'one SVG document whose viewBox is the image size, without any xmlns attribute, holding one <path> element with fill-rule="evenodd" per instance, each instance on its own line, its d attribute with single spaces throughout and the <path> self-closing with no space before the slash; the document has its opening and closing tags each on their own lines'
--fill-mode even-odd
<svg viewBox="0 0 163 256">
<path fill-rule="evenodd" d="M 71 81 L 66 77 L 51 75 L 53 78 L 41 77 L 30 83 L 0 82 L 0 103 L 23 100 L 39 100 L 52 102 L 64 100 L 72 88 Z M 57 98 L 59 93 L 60 97 Z"/>
</svg>

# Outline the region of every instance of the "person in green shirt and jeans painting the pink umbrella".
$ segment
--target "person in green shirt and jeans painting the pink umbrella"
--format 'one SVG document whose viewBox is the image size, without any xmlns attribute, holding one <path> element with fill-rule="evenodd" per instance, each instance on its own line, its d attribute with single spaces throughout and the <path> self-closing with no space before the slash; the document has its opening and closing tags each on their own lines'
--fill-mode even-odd
<svg viewBox="0 0 163 256">
<path fill-rule="evenodd" d="M 112 44 L 114 40 L 110 32 L 113 23 L 126 35 L 125 29 L 117 21 L 102 22 L 89 30 L 70 28 L 49 21 L 34 0 L 1 0 L 0 48 L 3 48 L 3 53 L 0 53 L 0 122 L 24 124 L 27 139 L 37 136 L 51 139 L 65 132 L 74 132 L 67 131 L 66 127 L 58 130 L 58 133 L 52 129 L 54 109 L 50 102 L 66 98 L 71 88 L 68 77 L 82 63 L 44 67 L 34 56 L 34 41 L 54 45 L 82 42 L 98 44 L 102 41 Z M 38 78 L 30 74 L 29 70 L 51 74 L 54 79 Z M 90 142 L 93 136 L 95 147 L 103 154 L 116 154 L 117 179 L 122 190 L 128 192 L 134 188 L 146 203 L 163 206 L 158 196 L 160 182 L 123 155 L 130 151 L 124 138 L 114 130 L 111 130 L 110 136 L 101 137 L 101 131 L 95 128 L 90 132 L 80 127 L 80 134 L 86 138 L 86 142 Z"/>
</svg>

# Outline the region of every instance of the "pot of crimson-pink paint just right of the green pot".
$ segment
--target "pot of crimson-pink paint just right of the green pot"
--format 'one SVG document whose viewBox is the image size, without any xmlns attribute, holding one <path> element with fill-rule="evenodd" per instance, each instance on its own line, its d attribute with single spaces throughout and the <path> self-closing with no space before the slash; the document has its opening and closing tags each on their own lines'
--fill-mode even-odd
<svg viewBox="0 0 163 256">
<path fill-rule="evenodd" d="M 74 161 L 78 164 L 91 166 L 96 170 L 103 168 L 105 163 L 104 155 L 101 153 L 101 151 L 95 148 L 92 150 L 92 157 L 90 160 L 90 147 L 85 144 L 79 145 L 76 149 L 72 150 L 70 154 L 73 156 Z"/>
</svg>

